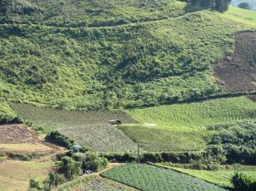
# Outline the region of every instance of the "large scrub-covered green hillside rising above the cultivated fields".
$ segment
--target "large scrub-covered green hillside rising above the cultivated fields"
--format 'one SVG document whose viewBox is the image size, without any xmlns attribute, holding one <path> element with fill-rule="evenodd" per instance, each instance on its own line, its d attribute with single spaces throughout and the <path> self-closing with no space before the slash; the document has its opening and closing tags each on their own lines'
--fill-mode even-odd
<svg viewBox="0 0 256 191">
<path fill-rule="evenodd" d="M 233 7 L 219 13 L 167 0 L 66 1 L 63 21 L 58 1 L 23 2 L 30 12 L 0 19 L 0 96 L 66 109 L 216 94 L 214 61 L 233 51 L 235 32 L 256 27 L 256 13 Z"/>
</svg>

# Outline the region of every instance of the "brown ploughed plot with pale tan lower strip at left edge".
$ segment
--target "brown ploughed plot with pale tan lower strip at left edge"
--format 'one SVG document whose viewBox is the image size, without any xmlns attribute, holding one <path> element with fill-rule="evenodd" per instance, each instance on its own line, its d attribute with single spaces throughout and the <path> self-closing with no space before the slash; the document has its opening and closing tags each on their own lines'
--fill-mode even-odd
<svg viewBox="0 0 256 191">
<path fill-rule="evenodd" d="M 51 153 L 55 150 L 43 144 L 43 141 L 25 125 L 1 125 L 0 149 L 22 153 Z"/>
</svg>

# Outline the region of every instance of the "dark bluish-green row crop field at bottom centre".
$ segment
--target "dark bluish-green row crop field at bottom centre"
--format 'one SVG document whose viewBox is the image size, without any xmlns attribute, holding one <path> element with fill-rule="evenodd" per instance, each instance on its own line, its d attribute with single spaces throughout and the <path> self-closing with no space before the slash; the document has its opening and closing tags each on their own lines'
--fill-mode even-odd
<svg viewBox="0 0 256 191">
<path fill-rule="evenodd" d="M 102 175 L 142 191 L 225 190 L 187 174 L 180 174 L 147 164 L 125 164 L 110 169 Z"/>
</svg>

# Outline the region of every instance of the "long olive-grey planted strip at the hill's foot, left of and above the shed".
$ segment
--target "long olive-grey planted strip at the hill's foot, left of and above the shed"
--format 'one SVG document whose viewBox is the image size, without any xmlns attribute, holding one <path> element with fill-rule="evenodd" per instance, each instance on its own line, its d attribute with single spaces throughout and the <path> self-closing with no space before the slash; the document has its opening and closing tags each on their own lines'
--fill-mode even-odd
<svg viewBox="0 0 256 191">
<path fill-rule="evenodd" d="M 13 110 L 25 120 L 42 125 L 46 130 L 57 130 L 71 126 L 108 124 L 108 120 L 123 123 L 137 123 L 122 110 L 111 111 L 66 111 L 43 108 L 34 105 L 12 104 Z"/>
</svg>

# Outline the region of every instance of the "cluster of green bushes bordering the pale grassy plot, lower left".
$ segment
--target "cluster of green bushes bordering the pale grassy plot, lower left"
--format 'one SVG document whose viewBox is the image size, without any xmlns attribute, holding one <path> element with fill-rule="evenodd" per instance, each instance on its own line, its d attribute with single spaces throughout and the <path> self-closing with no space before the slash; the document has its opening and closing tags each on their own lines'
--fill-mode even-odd
<svg viewBox="0 0 256 191">
<path fill-rule="evenodd" d="M 51 190 L 53 187 L 73 180 L 85 171 L 98 172 L 107 167 L 108 159 L 93 153 L 92 149 L 77 148 L 73 147 L 67 153 L 57 154 L 58 173 L 50 172 L 48 179 L 43 181 L 43 185 L 38 180 L 31 179 L 29 190 Z"/>
</svg>

